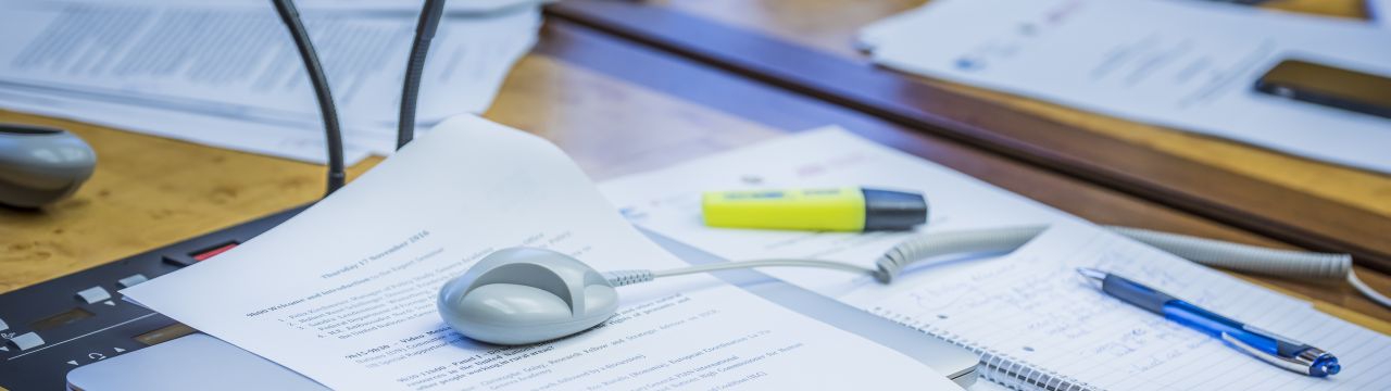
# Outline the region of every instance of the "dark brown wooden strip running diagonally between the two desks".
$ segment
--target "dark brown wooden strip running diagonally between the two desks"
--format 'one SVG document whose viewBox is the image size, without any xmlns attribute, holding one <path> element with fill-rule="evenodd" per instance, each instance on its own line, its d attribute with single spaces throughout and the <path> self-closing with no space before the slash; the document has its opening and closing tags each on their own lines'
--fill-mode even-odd
<svg viewBox="0 0 1391 391">
<path fill-rule="evenodd" d="M 548 13 L 922 132 L 1391 270 L 1391 241 L 1385 239 L 1391 218 L 1335 200 L 662 7 L 570 0 Z"/>
</svg>

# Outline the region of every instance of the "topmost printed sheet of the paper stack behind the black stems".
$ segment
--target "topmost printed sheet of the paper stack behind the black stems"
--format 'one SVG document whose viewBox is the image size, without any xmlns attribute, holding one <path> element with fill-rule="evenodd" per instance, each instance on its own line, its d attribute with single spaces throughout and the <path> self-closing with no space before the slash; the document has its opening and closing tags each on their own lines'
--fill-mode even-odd
<svg viewBox="0 0 1391 391">
<path fill-rule="evenodd" d="M 346 120 L 394 122 L 412 18 L 306 14 L 334 100 Z M 313 92 L 271 7 L 54 6 L 17 3 L 0 15 L 3 81 L 157 102 L 252 118 L 313 118 Z M 421 82 L 420 113 L 480 113 L 536 40 L 536 8 L 441 24 Z"/>
</svg>

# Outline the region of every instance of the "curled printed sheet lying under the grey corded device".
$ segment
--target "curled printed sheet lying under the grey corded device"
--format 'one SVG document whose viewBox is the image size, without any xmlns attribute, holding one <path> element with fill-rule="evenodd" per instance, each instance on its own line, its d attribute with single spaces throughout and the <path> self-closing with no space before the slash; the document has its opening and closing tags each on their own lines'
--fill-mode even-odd
<svg viewBox="0 0 1391 391">
<path fill-rule="evenodd" d="M 619 316 L 555 342 L 452 333 L 440 284 L 516 245 L 600 270 L 684 264 L 554 145 L 465 115 L 256 239 L 121 292 L 335 390 L 957 388 L 708 276 L 625 287 Z"/>
</svg>

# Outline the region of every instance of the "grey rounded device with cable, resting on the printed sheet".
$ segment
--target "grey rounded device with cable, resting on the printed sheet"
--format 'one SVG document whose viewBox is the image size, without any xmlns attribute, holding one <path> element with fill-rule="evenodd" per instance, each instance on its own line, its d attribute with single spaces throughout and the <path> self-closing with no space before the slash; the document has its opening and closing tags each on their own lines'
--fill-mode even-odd
<svg viewBox="0 0 1391 391">
<path fill-rule="evenodd" d="M 618 289 L 548 249 L 497 250 L 440 288 L 440 316 L 476 341 L 526 345 L 588 330 L 618 310 Z"/>
</svg>

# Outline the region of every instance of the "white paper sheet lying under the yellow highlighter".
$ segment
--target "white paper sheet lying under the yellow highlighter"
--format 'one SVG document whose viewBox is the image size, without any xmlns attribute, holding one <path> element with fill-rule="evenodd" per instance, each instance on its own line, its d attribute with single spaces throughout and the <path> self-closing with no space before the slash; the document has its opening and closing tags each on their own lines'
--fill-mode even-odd
<svg viewBox="0 0 1391 391">
<path fill-rule="evenodd" d="M 919 232 L 1042 225 L 1074 218 L 1052 207 L 854 136 L 837 127 L 805 131 L 662 170 L 613 178 L 600 189 L 629 221 L 726 259 L 821 257 L 874 267 L 885 250 L 914 232 L 800 232 L 716 230 L 701 221 L 700 193 L 757 188 L 865 186 L 921 192 L 931 209 Z M 768 269 L 765 273 L 857 306 L 899 287 L 837 271 Z"/>
</svg>

